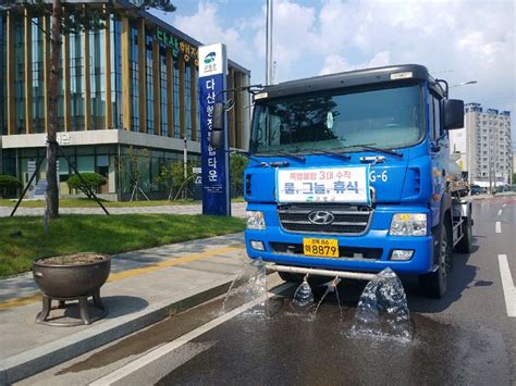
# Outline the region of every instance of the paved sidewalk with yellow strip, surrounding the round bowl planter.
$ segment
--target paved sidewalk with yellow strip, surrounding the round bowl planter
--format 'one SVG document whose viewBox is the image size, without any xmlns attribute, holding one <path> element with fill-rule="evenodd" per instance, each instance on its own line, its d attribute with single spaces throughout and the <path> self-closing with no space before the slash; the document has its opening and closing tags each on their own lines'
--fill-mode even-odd
<svg viewBox="0 0 516 386">
<path fill-rule="evenodd" d="M 36 324 L 32 274 L 0 279 L 0 385 L 51 368 L 225 292 L 246 263 L 242 233 L 111 258 L 108 315 L 88 326 Z"/>
</svg>

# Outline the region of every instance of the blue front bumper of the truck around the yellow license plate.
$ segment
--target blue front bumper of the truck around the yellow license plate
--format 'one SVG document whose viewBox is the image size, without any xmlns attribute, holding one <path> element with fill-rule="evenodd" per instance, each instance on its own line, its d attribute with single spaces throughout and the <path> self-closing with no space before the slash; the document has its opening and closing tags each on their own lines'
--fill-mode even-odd
<svg viewBox="0 0 516 386">
<path fill-rule="evenodd" d="M 261 258 L 266 262 L 283 265 L 370 273 L 380 272 L 388 266 L 402 274 L 423 274 L 432 270 L 433 242 L 430 235 L 421 237 L 389 235 L 390 221 L 394 213 L 428 212 L 428 209 L 422 207 L 379 207 L 374 210 L 368 231 L 360 236 L 291 233 L 284 231 L 279 224 L 275 206 L 249 204 L 248 210 L 263 211 L 267 224 L 265 231 L 247 229 L 245 233 L 247 254 L 251 259 Z M 340 258 L 315 258 L 303 254 L 305 237 L 336 239 Z M 261 241 L 265 250 L 253 249 L 251 240 Z M 413 250 L 411 259 L 390 260 L 395 249 Z"/>
</svg>

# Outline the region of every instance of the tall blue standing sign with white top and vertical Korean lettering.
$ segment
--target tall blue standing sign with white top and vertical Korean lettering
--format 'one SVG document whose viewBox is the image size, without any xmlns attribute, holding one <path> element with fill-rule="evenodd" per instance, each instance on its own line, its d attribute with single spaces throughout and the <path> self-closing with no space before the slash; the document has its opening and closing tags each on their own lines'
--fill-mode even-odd
<svg viewBox="0 0 516 386">
<path fill-rule="evenodd" d="M 213 108 L 216 102 L 223 101 L 225 98 L 222 91 L 225 90 L 226 70 L 228 59 L 224 45 L 199 47 L 202 214 L 231 215 L 226 127 L 224 127 L 223 149 L 210 147 Z"/>
</svg>

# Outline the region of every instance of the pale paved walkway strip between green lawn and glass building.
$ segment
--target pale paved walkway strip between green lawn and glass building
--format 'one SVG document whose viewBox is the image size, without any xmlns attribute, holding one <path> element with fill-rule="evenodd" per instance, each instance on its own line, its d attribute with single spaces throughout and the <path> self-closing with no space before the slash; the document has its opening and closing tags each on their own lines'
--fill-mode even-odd
<svg viewBox="0 0 516 386">
<path fill-rule="evenodd" d="M 245 217 L 247 202 L 233 202 L 231 213 L 235 217 Z M 14 203 L 13 203 L 14 208 Z M 13 208 L 0 207 L 0 217 L 7 217 L 11 214 Z M 161 206 L 161 207 L 122 207 L 107 208 L 110 214 L 130 214 L 130 213 L 162 213 L 162 214 L 201 214 L 202 206 L 200 203 L 184 206 Z M 105 214 L 103 210 L 98 208 L 60 208 L 61 214 Z M 40 215 L 45 214 L 44 208 L 24 208 L 16 210 L 15 216 Z"/>
</svg>

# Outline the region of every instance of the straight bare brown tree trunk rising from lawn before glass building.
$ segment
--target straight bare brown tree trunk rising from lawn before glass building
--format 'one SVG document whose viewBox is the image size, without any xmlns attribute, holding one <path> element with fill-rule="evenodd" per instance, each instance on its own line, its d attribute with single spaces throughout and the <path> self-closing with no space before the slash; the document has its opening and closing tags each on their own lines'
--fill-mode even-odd
<svg viewBox="0 0 516 386">
<path fill-rule="evenodd" d="M 61 0 L 52 3 L 52 37 L 50 59 L 50 87 L 48 105 L 48 133 L 47 133 L 47 197 L 46 216 L 57 219 L 59 216 L 59 187 L 58 187 L 58 84 L 59 84 L 59 60 L 61 54 Z"/>
</svg>

